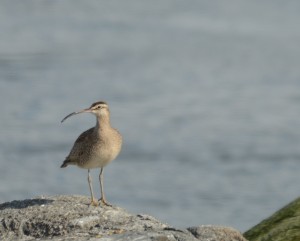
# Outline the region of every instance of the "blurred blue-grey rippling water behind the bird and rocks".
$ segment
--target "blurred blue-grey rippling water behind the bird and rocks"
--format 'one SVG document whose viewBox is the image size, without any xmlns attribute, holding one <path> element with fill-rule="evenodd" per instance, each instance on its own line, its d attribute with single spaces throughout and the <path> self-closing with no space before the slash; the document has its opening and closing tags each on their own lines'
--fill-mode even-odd
<svg viewBox="0 0 300 241">
<path fill-rule="evenodd" d="M 299 195 L 298 1 L 2 1 L 0 201 L 89 195 L 59 168 L 97 100 L 124 137 L 110 202 L 249 229 Z M 98 170 L 92 172 L 94 188 Z"/>
</svg>

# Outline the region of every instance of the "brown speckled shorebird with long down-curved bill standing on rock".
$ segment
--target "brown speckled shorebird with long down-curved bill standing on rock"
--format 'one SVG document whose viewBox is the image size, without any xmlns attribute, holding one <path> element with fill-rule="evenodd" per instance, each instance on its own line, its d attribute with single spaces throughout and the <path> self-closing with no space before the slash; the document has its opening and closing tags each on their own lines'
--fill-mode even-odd
<svg viewBox="0 0 300 241">
<path fill-rule="evenodd" d="M 61 167 L 76 165 L 88 169 L 88 183 L 91 193 L 91 205 L 98 206 L 98 201 L 104 205 L 111 206 L 105 198 L 103 190 L 103 168 L 114 160 L 121 151 L 122 136 L 118 130 L 110 125 L 109 108 L 106 102 L 98 101 L 93 103 L 89 108 L 72 112 L 63 118 L 81 114 L 92 113 L 96 116 L 96 126 L 83 132 L 75 141 L 70 154 L 66 157 Z M 97 201 L 94 198 L 92 179 L 90 169 L 100 168 L 99 182 L 101 198 Z"/>
</svg>

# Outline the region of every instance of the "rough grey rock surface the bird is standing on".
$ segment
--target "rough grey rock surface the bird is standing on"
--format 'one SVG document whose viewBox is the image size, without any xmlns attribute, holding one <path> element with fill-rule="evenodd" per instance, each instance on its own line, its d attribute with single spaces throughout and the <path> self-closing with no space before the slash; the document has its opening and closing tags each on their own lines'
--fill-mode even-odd
<svg viewBox="0 0 300 241">
<path fill-rule="evenodd" d="M 51 196 L 0 204 L 0 240 L 245 241 L 217 226 L 176 229 L 120 207 L 93 207 L 83 196 Z"/>
</svg>

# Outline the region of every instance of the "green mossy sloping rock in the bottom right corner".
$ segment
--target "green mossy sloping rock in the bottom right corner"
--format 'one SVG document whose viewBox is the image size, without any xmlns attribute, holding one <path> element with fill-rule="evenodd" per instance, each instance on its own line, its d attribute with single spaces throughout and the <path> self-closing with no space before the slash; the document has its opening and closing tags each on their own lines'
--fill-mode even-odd
<svg viewBox="0 0 300 241">
<path fill-rule="evenodd" d="M 300 240 L 300 198 L 244 233 L 250 241 Z"/>
</svg>

